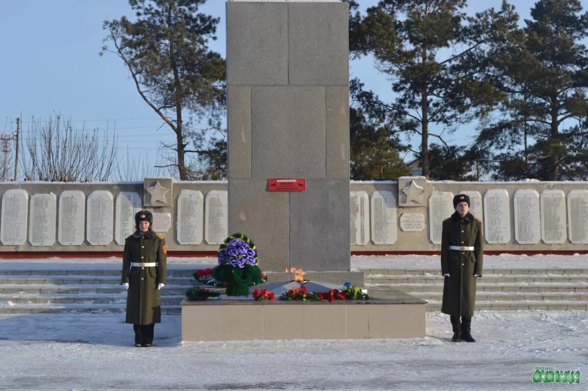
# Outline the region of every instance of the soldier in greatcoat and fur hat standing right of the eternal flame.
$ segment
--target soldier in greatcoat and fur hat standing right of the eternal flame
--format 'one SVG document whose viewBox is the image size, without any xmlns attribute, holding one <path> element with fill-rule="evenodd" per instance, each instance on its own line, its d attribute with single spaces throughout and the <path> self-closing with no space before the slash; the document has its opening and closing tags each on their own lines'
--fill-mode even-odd
<svg viewBox="0 0 588 391">
<path fill-rule="evenodd" d="M 476 304 L 476 278 L 482 277 L 482 221 L 469 213 L 470 197 L 466 194 L 453 197 L 453 207 L 455 213 L 443 221 L 441 274 L 445 276 L 445 284 L 441 311 L 450 315 L 453 342 L 461 339 L 476 342 L 471 325 Z"/>
</svg>

